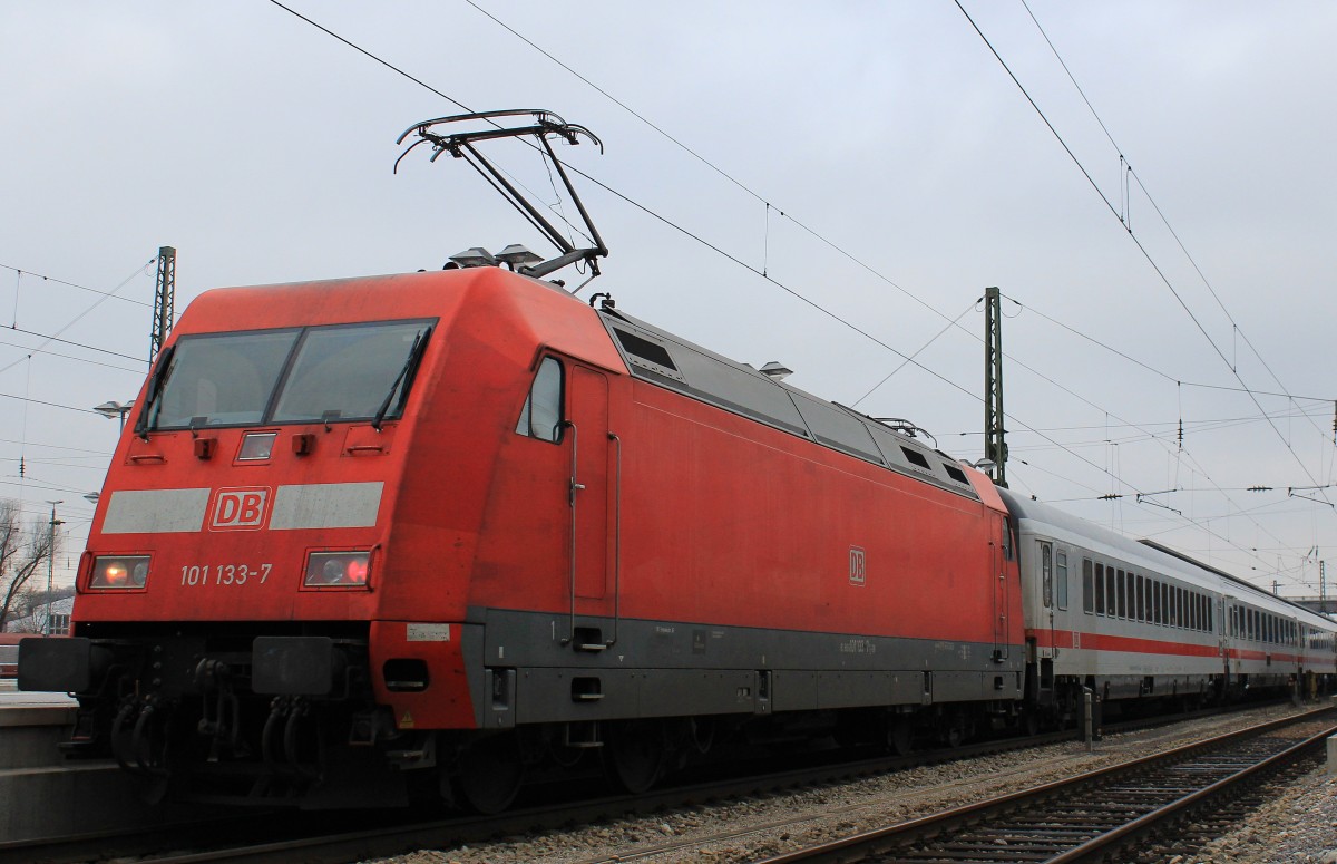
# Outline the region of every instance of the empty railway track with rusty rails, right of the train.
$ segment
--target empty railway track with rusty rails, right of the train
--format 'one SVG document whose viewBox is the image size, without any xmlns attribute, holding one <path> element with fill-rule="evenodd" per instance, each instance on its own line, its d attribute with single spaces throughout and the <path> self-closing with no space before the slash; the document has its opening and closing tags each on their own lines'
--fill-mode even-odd
<svg viewBox="0 0 1337 864">
<path fill-rule="evenodd" d="M 1328 736 L 1332 713 L 1290 717 L 1120 765 L 953 808 L 766 859 L 762 864 L 852 863 L 972 864 L 1036 861 L 1078 864 L 1142 859 L 1143 847 L 1163 845 L 1169 831 L 1190 817 L 1206 843 L 1222 815 L 1199 819 L 1201 808 L 1247 796 L 1277 772 L 1305 770 Z M 1233 809 L 1238 809 L 1235 805 Z M 1183 848 L 1179 849 L 1185 851 Z"/>
</svg>

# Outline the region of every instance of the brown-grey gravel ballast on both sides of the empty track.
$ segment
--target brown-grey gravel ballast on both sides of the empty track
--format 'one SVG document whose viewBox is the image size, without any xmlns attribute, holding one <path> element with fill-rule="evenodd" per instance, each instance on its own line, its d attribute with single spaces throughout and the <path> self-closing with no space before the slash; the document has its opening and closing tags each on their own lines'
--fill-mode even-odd
<svg viewBox="0 0 1337 864">
<path fill-rule="evenodd" d="M 924 816 L 1040 782 L 1167 750 L 1297 713 L 1271 706 L 1214 720 L 1107 736 L 1088 753 L 1080 742 L 1013 750 L 845 784 L 797 789 L 654 816 L 544 831 L 377 864 L 594 864 L 755 861 L 822 840 Z M 1337 864 L 1337 780 L 1312 772 L 1259 808 L 1230 835 L 1174 864 Z"/>
</svg>

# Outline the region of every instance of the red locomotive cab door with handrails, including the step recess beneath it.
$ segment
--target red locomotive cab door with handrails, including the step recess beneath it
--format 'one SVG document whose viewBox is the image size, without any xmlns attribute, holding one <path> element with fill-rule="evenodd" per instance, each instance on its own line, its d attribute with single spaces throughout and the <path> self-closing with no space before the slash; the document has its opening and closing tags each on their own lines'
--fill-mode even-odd
<svg viewBox="0 0 1337 864">
<path fill-rule="evenodd" d="M 610 523 L 615 514 L 614 484 L 618 460 L 611 460 L 616 439 L 608 433 L 608 379 L 574 365 L 568 381 L 570 416 L 566 423 L 571 449 L 571 639 L 576 647 L 600 650 L 615 638 L 616 623 L 584 626 L 582 615 L 612 615 L 608 586 Z M 612 469 L 610 469 L 612 467 Z"/>
</svg>

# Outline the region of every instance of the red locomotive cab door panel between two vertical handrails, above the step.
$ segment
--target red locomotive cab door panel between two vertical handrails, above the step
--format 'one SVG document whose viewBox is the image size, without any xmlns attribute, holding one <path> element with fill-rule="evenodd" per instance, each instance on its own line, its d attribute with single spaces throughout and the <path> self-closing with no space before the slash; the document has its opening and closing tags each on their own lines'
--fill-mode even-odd
<svg viewBox="0 0 1337 864">
<path fill-rule="evenodd" d="M 571 591 L 576 598 L 603 599 L 608 572 L 608 379 L 571 365 L 570 415 L 566 423 L 571 448 Z M 590 605 L 586 606 L 587 611 Z M 595 605 L 599 606 L 599 605 Z"/>
</svg>

